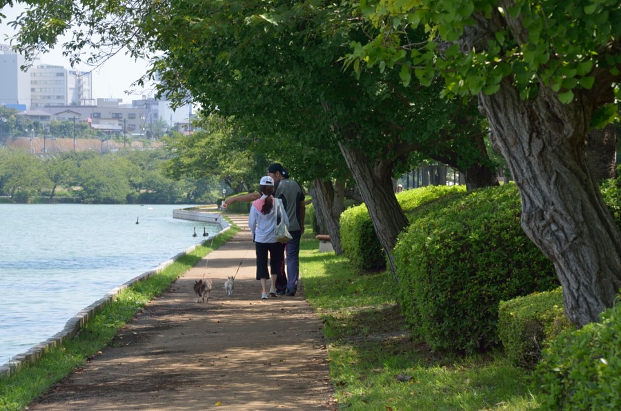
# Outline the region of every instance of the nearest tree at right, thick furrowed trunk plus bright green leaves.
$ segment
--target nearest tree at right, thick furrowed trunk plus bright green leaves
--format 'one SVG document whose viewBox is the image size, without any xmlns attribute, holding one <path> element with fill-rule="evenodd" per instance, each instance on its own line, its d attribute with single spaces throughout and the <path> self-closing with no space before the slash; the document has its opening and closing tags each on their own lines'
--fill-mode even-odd
<svg viewBox="0 0 621 411">
<path fill-rule="evenodd" d="M 444 79 L 476 94 L 522 197 L 522 227 L 553 261 L 565 312 L 597 321 L 621 288 L 621 234 L 585 159 L 587 132 L 616 115 L 621 80 L 618 1 L 360 3 L 377 35 L 349 61 L 397 69 L 405 84 Z M 424 41 L 408 34 L 424 27 Z M 361 64 L 362 63 L 362 64 Z"/>
</svg>

